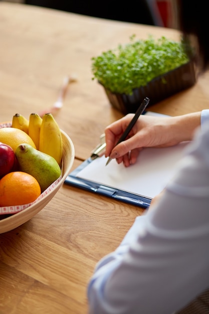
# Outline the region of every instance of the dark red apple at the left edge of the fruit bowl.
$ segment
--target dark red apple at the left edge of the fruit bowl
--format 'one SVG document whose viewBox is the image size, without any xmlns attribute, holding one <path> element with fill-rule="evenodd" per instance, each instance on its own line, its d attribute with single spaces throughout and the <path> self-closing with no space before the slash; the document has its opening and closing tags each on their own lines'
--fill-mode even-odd
<svg viewBox="0 0 209 314">
<path fill-rule="evenodd" d="M 15 164 L 15 152 L 11 146 L 0 142 L 0 178 L 11 172 Z"/>
</svg>

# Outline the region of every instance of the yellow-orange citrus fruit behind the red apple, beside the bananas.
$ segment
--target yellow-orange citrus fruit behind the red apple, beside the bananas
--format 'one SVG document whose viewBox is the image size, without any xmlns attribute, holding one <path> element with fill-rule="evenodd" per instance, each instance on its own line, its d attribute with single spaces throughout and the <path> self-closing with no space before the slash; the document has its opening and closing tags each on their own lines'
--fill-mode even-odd
<svg viewBox="0 0 209 314">
<path fill-rule="evenodd" d="M 20 144 L 24 143 L 36 148 L 33 139 L 26 132 L 15 127 L 0 128 L 0 142 L 11 146 L 14 151 Z"/>
</svg>

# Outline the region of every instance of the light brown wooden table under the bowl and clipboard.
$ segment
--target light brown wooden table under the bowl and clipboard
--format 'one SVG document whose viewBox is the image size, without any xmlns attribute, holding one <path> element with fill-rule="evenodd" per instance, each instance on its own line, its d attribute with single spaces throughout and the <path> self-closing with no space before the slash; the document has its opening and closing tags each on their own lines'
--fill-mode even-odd
<svg viewBox="0 0 209 314">
<path fill-rule="evenodd" d="M 0 120 L 51 107 L 63 78 L 76 75 L 56 120 L 73 140 L 77 167 L 105 126 L 122 116 L 92 81 L 91 58 L 133 34 L 179 36 L 166 28 L 0 2 Z M 208 73 L 150 110 L 179 115 L 207 108 L 207 86 Z M 142 213 L 63 185 L 29 222 L 0 235 L 0 313 L 87 313 L 86 287 L 96 262 L 117 247 Z"/>
</svg>

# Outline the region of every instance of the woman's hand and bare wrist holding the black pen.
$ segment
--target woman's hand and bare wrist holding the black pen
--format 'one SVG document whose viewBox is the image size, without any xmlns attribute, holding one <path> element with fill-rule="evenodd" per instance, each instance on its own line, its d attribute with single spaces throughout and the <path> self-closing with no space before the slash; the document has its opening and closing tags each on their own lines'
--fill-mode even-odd
<svg viewBox="0 0 209 314">
<path fill-rule="evenodd" d="M 123 162 L 125 167 L 136 162 L 143 147 L 167 147 L 191 140 L 200 125 L 200 112 L 176 117 L 141 115 L 128 138 L 115 146 L 132 118 L 133 114 L 127 114 L 105 129 L 105 156 L 115 158 L 118 164 Z"/>
</svg>

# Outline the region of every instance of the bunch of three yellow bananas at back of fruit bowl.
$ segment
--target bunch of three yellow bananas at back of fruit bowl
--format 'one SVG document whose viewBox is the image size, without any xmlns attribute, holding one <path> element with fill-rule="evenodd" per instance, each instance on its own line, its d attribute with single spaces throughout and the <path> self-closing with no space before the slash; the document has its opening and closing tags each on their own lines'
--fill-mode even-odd
<svg viewBox="0 0 209 314">
<path fill-rule="evenodd" d="M 54 157 L 61 166 L 62 134 L 52 113 L 45 113 L 43 118 L 38 113 L 31 113 L 29 120 L 16 113 L 13 117 L 12 127 L 25 131 L 33 139 L 38 150 Z"/>
</svg>

